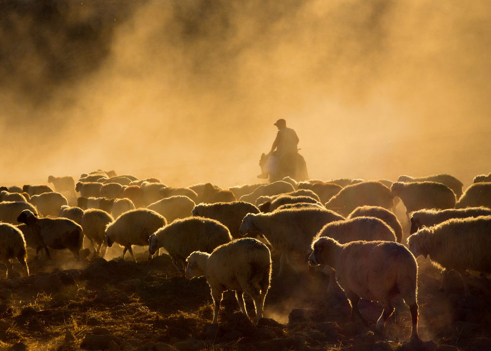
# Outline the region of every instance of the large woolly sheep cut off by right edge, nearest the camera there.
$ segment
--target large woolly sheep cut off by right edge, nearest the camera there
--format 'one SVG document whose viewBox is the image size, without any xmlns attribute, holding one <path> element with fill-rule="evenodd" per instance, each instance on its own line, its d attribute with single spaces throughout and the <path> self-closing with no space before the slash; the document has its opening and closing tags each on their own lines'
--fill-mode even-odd
<svg viewBox="0 0 491 351">
<path fill-rule="evenodd" d="M 423 255 L 442 269 L 440 290 L 446 273 L 455 269 L 462 277 L 465 296 L 470 296 L 465 270 L 491 273 L 491 216 L 453 218 L 422 228 L 407 238 L 415 257 Z"/>
</svg>

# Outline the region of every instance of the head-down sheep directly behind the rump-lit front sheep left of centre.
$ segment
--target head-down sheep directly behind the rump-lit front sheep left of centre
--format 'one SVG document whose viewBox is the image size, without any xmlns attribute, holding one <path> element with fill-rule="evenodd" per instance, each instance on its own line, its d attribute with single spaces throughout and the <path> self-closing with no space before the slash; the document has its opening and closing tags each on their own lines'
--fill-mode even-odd
<svg viewBox="0 0 491 351">
<path fill-rule="evenodd" d="M 184 273 L 186 258 L 193 251 L 211 253 L 217 246 L 232 240 L 229 229 L 222 223 L 204 217 L 189 217 L 175 220 L 150 236 L 148 252 L 163 247 L 172 258 L 178 272 Z"/>
</svg>

